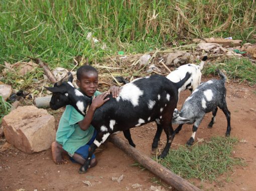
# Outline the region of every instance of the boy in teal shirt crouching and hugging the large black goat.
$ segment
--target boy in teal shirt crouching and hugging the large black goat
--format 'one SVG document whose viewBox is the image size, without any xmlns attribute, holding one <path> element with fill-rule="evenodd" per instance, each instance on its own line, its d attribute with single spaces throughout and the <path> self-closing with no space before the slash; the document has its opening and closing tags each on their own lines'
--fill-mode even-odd
<svg viewBox="0 0 256 191">
<path fill-rule="evenodd" d="M 94 127 L 90 125 L 94 111 L 109 99 L 105 97 L 110 92 L 113 97 L 117 97 L 120 91 L 117 86 L 111 86 L 108 92 L 102 94 L 97 91 L 98 71 L 90 65 L 79 67 L 76 74 L 79 90 L 93 99 L 85 116 L 81 115 L 73 106 L 66 106 L 56 132 L 56 141 L 52 143 L 52 156 L 56 164 L 68 163 L 62 157 L 62 153 L 68 153 L 73 162 L 84 163 L 89 146 L 97 133 Z M 90 167 L 96 164 L 97 160 L 93 154 Z"/>
</svg>

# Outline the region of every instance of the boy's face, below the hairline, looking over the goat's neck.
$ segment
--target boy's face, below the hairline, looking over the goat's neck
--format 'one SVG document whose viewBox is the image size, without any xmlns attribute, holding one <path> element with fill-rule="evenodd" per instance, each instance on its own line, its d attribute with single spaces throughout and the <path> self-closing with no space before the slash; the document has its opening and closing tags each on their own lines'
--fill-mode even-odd
<svg viewBox="0 0 256 191">
<path fill-rule="evenodd" d="M 81 79 L 77 79 L 77 85 L 87 96 L 93 96 L 98 88 L 98 74 L 93 71 L 83 73 Z"/>
</svg>

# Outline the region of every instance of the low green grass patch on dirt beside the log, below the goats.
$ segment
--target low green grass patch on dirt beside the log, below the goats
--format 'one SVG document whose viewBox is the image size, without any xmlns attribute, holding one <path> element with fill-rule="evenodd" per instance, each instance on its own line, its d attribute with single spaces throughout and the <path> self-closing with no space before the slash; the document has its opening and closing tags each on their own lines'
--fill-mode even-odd
<svg viewBox="0 0 256 191">
<path fill-rule="evenodd" d="M 183 178 L 199 178 L 211 182 L 232 170 L 233 165 L 245 165 L 240 158 L 231 156 L 237 142 L 237 138 L 212 137 L 210 141 L 200 145 L 171 149 L 159 162 Z"/>
</svg>

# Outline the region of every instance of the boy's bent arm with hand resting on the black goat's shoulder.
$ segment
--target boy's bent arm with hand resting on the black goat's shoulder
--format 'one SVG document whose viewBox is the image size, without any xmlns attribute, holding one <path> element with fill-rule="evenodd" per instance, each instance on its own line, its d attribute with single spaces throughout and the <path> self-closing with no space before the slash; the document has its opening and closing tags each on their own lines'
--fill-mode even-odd
<svg viewBox="0 0 256 191">
<path fill-rule="evenodd" d="M 104 102 L 106 102 L 109 99 L 109 97 L 105 99 L 105 97 L 108 94 L 109 94 L 108 92 L 104 92 L 92 99 L 92 103 L 91 103 L 85 117 L 83 118 L 83 120 L 78 122 L 78 125 L 80 126 L 80 128 L 82 130 L 87 130 L 89 128 L 91 121 L 92 121 L 94 111 L 96 110 L 96 108 L 100 107 Z"/>
</svg>

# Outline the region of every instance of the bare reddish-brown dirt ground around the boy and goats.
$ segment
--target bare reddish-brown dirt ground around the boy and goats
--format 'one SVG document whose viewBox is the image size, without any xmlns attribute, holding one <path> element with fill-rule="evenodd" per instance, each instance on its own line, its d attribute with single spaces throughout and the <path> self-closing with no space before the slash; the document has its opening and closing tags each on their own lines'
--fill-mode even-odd
<svg viewBox="0 0 256 191">
<path fill-rule="evenodd" d="M 202 79 L 205 80 L 206 78 Z M 226 99 L 231 112 L 231 136 L 242 140 L 232 154 L 234 157 L 242 157 L 247 166 L 235 166 L 232 172 L 223 174 L 218 178 L 219 181 L 213 183 L 197 179 L 189 181 L 201 186 L 203 190 L 256 190 L 256 89 L 231 82 L 227 83 L 226 87 Z M 181 93 L 178 108 L 188 95 L 189 91 Z M 210 119 L 211 113 L 208 113 L 197 130 L 196 138 L 207 139 L 225 134 L 226 118 L 223 112 L 218 110 L 212 129 L 206 127 Z M 131 129 L 136 148 L 151 156 L 155 132 L 154 122 Z M 175 136 L 172 148 L 179 144 L 184 145 L 191 132 L 192 125 L 184 125 L 181 132 Z M 122 133 L 119 133 L 119 136 L 124 138 Z M 161 140 L 166 141 L 164 133 Z M 5 139 L 0 138 L 0 144 L 4 143 Z M 80 165 L 76 163 L 55 165 L 50 149 L 34 154 L 26 154 L 15 148 L 0 152 L 0 190 L 150 190 L 151 185 L 158 186 L 159 183 L 165 190 L 171 190 L 149 170 L 133 166 L 136 161 L 112 143 L 108 142 L 102 148 L 103 150 L 96 153 L 98 164 L 85 174 L 78 173 Z M 112 181 L 112 177 L 122 174 L 124 176 L 120 183 Z M 92 186 L 85 184 L 84 180 L 89 180 Z M 136 183 L 142 186 L 133 188 L 132 185 Z"/>
</svg>

